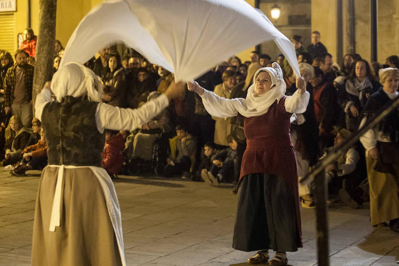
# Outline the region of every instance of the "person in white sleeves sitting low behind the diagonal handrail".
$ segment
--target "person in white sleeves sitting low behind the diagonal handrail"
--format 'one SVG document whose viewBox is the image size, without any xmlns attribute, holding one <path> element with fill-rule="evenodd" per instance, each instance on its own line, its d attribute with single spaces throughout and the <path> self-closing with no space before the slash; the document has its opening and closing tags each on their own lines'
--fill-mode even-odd
<svg viewBox="0 0 399 266">
<path fill-rule="evenodd" d="M 320 158 L 323 159 L 328 153 L 333 152 L 340 144 L 349 138 L 351 132 L 341 129 L 336 133 L 334 146 L 326 148 L 326 152 Z M 363 190 L 359 188 L 357 164 L 359 153 L 355 148 L 349 148 L 341 156 L 326 166 L 325 176 L 329 182 L 330 194 L 338 192 L 338 195 L 348 206 L 357 209 L 363 203 L 361 196 Z"/>
</svg>

